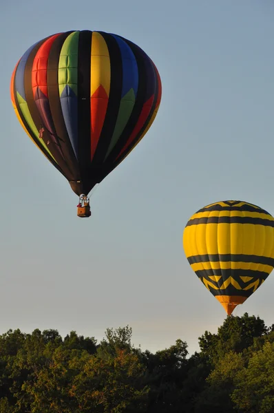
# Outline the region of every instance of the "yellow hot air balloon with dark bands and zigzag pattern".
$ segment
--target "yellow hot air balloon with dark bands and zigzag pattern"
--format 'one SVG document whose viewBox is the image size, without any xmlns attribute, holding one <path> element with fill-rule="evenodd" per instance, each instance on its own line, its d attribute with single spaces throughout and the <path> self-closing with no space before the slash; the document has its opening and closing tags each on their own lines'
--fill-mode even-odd
<svg viewBox="0 0 274 413">
<path fill-rule="evenodd" d="M 191 268 L 228 315 L 273 270 L 274 218 L 247 202 L 200 209 L 187 222 L 182 241 Z"/>
</svg>

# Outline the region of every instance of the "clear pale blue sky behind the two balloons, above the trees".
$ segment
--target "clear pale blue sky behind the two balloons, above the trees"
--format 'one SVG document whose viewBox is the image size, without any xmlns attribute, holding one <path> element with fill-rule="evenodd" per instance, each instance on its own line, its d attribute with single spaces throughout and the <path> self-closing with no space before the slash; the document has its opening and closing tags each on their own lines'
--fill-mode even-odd
<svg viewBox="0 0 274 413">
<path fill-rule="evenodd" d="M 227 199 L 274 215 L 272 0 L 14 0 L 0 6 L 0 333 L 129 324 L 151 351 L 198 349 L 226 314 L 182 251 L 189 217 Z M 19 125 L 10 76 L 56 32 L 103 30 L 142 47 L 162 78 L 154 125 L 98 186 L 92 218 Z M 274 273 L 235 315 L 274 323 Z"/>
</svg>

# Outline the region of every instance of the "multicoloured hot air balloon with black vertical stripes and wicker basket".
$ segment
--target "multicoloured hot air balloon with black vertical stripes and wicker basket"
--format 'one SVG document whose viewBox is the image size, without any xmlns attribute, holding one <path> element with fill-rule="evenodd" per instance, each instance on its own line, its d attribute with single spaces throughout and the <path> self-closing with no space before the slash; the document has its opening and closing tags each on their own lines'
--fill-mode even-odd
<svg viewBox="0 0 274 413">
<path fill-rule="evenodd" d="M 131 41 L 89 30 L 53 34 L 32 45 L 12 74 L 12 105 L 25 132 L 81 195 L 145 136 L 161 99 L 153 61 Z"/>
</svg>

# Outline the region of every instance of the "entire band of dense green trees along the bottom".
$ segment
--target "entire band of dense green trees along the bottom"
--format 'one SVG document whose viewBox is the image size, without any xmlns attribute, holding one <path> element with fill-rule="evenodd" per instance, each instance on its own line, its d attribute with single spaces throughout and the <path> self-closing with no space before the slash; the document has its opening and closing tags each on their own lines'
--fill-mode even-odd
<svg viewBox="0 0 274 413">
<path fill-rule="evenodd" d="M 187 343 L 155 354 L 131 344 L 131 328 L 105 339 L 56 330 L 0 336 L 0 413 L 273 413 L 274 326 L 227 317 Z"/>
</svg>

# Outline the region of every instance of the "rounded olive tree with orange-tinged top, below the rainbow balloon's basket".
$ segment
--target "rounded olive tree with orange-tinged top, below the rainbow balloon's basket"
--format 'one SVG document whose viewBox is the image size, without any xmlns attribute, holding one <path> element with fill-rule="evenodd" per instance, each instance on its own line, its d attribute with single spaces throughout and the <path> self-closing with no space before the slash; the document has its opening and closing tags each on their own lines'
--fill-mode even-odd
<svg viewBox="0 0 274 413">
<path fill-rule="evenodd" d="M 136 354 L 117 350 L 106 357 L 101 352 L 87 357 L 71 394 L 83 413 L 143 412 L 148 393 L 143 385 L 144 374 L 145 366 Z"/>
</svg>

